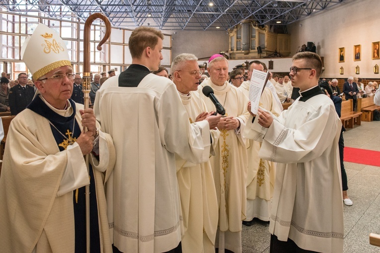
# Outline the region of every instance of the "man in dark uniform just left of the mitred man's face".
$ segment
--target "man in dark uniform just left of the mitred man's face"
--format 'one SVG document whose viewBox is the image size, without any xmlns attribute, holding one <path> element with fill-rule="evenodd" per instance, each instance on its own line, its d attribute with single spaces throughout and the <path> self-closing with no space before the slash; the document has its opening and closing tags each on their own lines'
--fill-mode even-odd
<svg viewBox="0 0 380 253">
<path fill-rule="evenodd" d="M 18 74 L 18 84 L 9 90 L 9 107 L 11 115 L 17 115 L 32 102 L 34 88 L 26 85 L 28 76 L 26 73 Z"/>
</svg>

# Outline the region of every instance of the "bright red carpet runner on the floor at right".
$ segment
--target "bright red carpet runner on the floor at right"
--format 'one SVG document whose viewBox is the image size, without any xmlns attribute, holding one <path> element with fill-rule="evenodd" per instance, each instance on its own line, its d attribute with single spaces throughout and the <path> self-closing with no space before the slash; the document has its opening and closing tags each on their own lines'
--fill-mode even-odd
<svg viewBox="0 0 380 253">
<path fill-rule="evenodd" d="M 345 147 L 344 161 L 380 167 L 380 151 Z"/>
</svg>

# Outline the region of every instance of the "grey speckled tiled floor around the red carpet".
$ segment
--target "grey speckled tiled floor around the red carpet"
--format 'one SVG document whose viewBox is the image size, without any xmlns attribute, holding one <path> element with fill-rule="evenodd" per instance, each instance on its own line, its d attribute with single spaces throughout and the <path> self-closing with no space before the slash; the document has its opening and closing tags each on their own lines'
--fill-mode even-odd
<svg viewBox="0 0 380 253">
<path fill-rule="evenodd" d="M 362 122 L 343 134 L 345 146 L 380 151 L 380 122 Z M 354 202 L 345 206 L 344 253 L 380 253 L 369 243 L 369 234 L 380 234 L 380 167 L 345 162 L 348 194 Z M 255 219 L 243 226 L 243 253 L 269 253 L 269 222 Z"/>
</svg>

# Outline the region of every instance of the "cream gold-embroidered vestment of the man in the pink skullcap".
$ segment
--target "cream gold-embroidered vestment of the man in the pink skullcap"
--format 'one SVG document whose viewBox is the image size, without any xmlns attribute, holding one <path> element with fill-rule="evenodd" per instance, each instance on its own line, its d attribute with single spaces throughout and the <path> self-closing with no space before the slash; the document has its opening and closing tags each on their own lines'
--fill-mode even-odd
<svg viewBox="0 0 380 253">
<path fill-rule="evenodd" d="M 225 108 L 226 116 L 232 116 L 240 122 L 237 129 L 221 130 L 215 148 L 216 156 L 210 158 L 219 204 L 219 237 L 217 235 L 216 248 L 219 248 L 221 253 L 224 249 L 240 253 L 241 221 L 245 219 L 246 211 L 247 177 L 247 151 L 241 131 L 248 119 L 248 98 L 227 81 L 223 86 L 217 86 L 210 78 L 206 78 L 199 85 L 198 92 L 209 112 L 216 111 L 216 108 L 202 93 L 206 85 L 214 89 L 214 95 Z"/>
</svg>

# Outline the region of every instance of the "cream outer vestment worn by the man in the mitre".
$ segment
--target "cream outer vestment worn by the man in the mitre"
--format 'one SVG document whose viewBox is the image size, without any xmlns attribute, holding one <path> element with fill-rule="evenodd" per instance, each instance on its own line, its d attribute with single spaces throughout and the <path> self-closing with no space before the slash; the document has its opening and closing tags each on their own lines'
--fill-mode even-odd
<svg viewBox="0 0 380 253">
<path fill-rule="evenodd" d="M 46 102 L 47 103 L 47 102 Z M 73 108 L 50 109 L 61 116 Z M 82 129 L 76 104 L 75 119 Z M 100 126 L 99 126 L 100 127 Z M 112 252 L 103 184 L 115 163 L 109 134 L 99 131 L 97 161 L 92 165 L 99 214 L 100 244 Z M 75 224 L 73 190 L 89 184 L 87 167 L 77 143 L 60 151 L 46 118 L 25 109 L 10 123 L 0 177 L 0 251 L 73 253 Z"/>
</svg>

